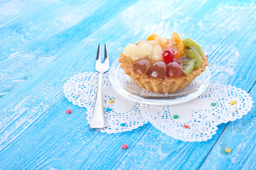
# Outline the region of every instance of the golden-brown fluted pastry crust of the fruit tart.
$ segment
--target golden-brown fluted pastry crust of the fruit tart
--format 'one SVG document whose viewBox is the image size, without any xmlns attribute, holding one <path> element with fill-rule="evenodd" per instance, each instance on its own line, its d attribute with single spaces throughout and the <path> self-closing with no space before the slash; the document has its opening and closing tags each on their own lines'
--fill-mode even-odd
<svg viewBox="0 0 256 170">
<path fill-rule="evenodd" d="M 119 62 L 121 68 L 124 69 L 124 73 L 129 75 L 132 80 L 143 89 L 148 91 L 154 91 L 156 93 L 169 93 L 183 89 L 190 84 L 196 77 L 206 70 L 208 66 L 208 57 L 203 53 L 202 64 L 199 69 L 194 69 L 188 76 L 181 77 L 166 77 L 165 79 L 157 79 L 155 77 L 149 77 L 146 74 L 139 74 L 139 72 L 133 69 L 133 62 L 125 55 L 119 55 Z"/>
</svg>

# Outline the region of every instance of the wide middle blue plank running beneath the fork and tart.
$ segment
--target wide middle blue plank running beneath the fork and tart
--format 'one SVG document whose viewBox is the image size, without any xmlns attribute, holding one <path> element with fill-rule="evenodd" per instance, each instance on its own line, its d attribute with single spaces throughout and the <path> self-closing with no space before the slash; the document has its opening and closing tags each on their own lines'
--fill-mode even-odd
<svg viewBox="0 0 256 170">
<path fill-rule="evenodd" d="M 203 4 L 155 1 L 144 6 L 144 1 L 139 1 L 77 42 L 72 49 L 61 53 L 59 60 L 48 64 L 0 99 L 0 108 L 3 108 L 0 115 L 0 165 L 3 169 L 197 169 L 225 125 L 219 125 L 218 133 L 207 142 L 174 140 L 151 125 L 108 135 L 87 127 L 85 109 L 68 102 L 62 86 L 74 74 L 94 70 L 92 63 L 99 42 L 107 42 L 112 62 L 128 42 L 145 39 L 151 32 L 168 37 L 176 30 L 183 38 L 186 35 L 203 45 L 213 65 L 214 82 L 225 75 L 227 77 L 220 81 L 249 91 L 255 74 L 244 66 L 251 63 L 252 69 L 256 67 L 253 62 L 255 50 L 250 53 L 240 45 L 246 41 L 243 37 L 251 35 L 251 32 L 241 30 L 247 26 L 253 28 L 255 23 L 248 16 L 254 13 L 250 10 L 251 4 L 244 4 L 244 13 L 239 8 L 230 9 L 230 6 L 238 4 L 229 1 L 221 4 L 215 1 Z M 188 11 L 183 11 L 184 8 Z M 247 24 L 240 26 L 238 21 L 220 17 L 223 14 L 240 15 L 238 21 Z M 216 25 L 212 26 L 213 23 Z M 228 24 L 235 28 L 240 26 L 240 31 L 226 28 Z M 232 36 L 237 37 L 235 42 Z M 253 45 L 252 40 L 247 45 Z M 236 69 L 231 72 L 232 67 Z M 240 77 L 242 81 L 236 80 Z M 73 113 L 66 115 L 66 108 L 71 108 Z M 124 143 L 130 146 L 129 149 L 120 148 Z M 212 161 L 215 159 L 213 157 Z"/>
</svg>

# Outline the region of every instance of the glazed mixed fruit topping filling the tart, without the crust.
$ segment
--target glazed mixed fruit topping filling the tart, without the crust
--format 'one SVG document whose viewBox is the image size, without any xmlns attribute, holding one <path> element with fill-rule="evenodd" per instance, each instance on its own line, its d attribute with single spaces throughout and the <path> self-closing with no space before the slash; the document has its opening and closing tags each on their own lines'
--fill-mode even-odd
<svg viewBox="0 0 256 170">
<path fill-rule="evenodd" d="M 139 74 L 165 79 L 166 77 L 188 76 L 202 63 L 201 45 L 191 38 L 182 40 L 177 33 L 170 39 L 151 34 L 137 45 L 128 44 L 123 54 L 132 60 L 133 69 Z"/>
</svg>

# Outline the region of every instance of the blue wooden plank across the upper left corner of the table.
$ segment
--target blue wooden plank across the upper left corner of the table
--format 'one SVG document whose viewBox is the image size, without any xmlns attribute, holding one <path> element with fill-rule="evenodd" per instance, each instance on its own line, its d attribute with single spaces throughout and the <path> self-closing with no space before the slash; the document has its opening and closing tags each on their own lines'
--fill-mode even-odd
<svg viewBox="0 0 256 170">
<path fill-rule="evenodd" d="M 5 13 L 8 20 L 0 22 L 0 98 L 133 3 L 10 1 L 2 4 L 10 12 Z M 14 6 L 16 15 L 11 12 Z"/>
</svg>

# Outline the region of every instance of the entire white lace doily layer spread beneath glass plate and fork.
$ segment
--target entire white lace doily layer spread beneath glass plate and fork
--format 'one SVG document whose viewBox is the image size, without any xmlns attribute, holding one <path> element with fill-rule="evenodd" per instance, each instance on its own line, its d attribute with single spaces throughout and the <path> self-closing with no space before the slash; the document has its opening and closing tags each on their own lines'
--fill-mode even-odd
<svg viewBox="0 0 256 170">
<path fill-rule="evenodd" d="M 80 73 L 63 86 L 69 101 L 87 108 L 88 123 L 95 103 L 97 75 L 92 72 Z M 174 106 L 147 105 L 120 96 L 107 77 L 108 74 L 103 77 L 103 108 L 107 126 L 101 132 L 129 131 L 149 122 L 177 140 L 205 141 L 216 133 L 217 125 L 242 118 L 251 110 L 253 103 L 249 94 L 242 89 L 210 84 L 206 92 L 193 101 Z M 109 103 L 110 100 L 114 100 L 114 103 Z M 235 105 L 231 106 L 230 101 L 235 101 Z M 216 105 L 211 106 L 211 103 Z M 178 118 L 174 115 L 178 115 Z"/>
</svg>

